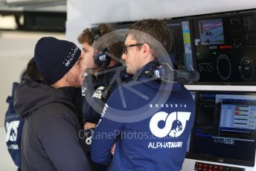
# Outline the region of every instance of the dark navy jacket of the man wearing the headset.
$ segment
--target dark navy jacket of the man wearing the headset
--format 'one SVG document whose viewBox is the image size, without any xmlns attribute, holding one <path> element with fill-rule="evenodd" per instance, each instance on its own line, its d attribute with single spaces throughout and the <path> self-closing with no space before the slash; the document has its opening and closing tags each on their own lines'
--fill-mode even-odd
<svg viewBox="0 0 256 171">
<path fill-rule="evenodd" d="M 83 123 L 97 123 L 109 95 L 121 84 L 129 82 L 129 79 L 122 65 L 100 71 L 97 80 L 92 75 L 87 76 L 83 85 Z"/>
</svg>

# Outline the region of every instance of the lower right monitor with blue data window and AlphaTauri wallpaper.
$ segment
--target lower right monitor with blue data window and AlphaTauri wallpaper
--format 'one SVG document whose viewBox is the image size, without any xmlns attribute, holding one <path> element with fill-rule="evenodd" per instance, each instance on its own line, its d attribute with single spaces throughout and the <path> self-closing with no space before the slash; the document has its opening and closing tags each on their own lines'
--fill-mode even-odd
<svg viewBox="0 0 256 171">
<path fill-rule="evenodd" d="M 256 92 L 198 91 L 188 158 L 255 165 Z"/>
</svg>

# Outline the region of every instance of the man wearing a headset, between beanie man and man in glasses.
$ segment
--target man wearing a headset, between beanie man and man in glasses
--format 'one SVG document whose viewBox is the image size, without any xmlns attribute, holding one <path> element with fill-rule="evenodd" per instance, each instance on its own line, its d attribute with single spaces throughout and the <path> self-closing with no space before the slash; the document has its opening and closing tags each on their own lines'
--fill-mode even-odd
<svg viewBox="0 0 256 171">
<path fill-rule="evenodd" d="M 85 71 L 83 80 L 83 123 L 86 130 L 86 147 L 90 152 L 92 131 L 100 120 L 100 114 L 109 94 L 121 84 L 129 80 L 125 68 L 121 65 L 120 38 L 113 33 L 113 28 L 108 24 L 100 24 L 95 28 L 86 28 L 78 37 L 78 42 L 83 45 L 82 68 Z M 95 166 L 94 170 L 106 170 L 107 167 Z"/>
</svg>

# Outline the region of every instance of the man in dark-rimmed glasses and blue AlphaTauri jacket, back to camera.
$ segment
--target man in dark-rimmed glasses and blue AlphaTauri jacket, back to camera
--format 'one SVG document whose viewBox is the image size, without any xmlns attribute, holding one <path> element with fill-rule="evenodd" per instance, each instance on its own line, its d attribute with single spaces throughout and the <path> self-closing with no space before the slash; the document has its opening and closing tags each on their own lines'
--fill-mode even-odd
<svg viewBox="0 0 256 171">
<path fill-rule="evenodd" d="M 159 65 L 159 49 L 170 53 L 171 42 L 167 25 L 157 19 L 129 28 L 122 58 L 135 81 L 115 90 L 103 109 L 92 139 L 96 163 L 108 164 L 115 144 L 111 170 L 182 169 L 193 125 L 193 98 L 179 83 L 148 75 Z"/>
</svg>

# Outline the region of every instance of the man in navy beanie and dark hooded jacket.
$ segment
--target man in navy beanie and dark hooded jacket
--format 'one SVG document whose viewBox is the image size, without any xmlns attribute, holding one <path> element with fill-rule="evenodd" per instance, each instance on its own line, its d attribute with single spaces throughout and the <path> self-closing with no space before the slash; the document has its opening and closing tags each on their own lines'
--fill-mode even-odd
<svg viewBox="0 0 256 171">
<path fill-rule="evenodd" d="M 14 109 L 25 118 L 22 170 L 91 170 L 78 136 L 80 54 L 73 42 L 54 37 L 36 43 L 34 59 L 45 81 L 25 76 L 14 95 Z"/>
</svg>

